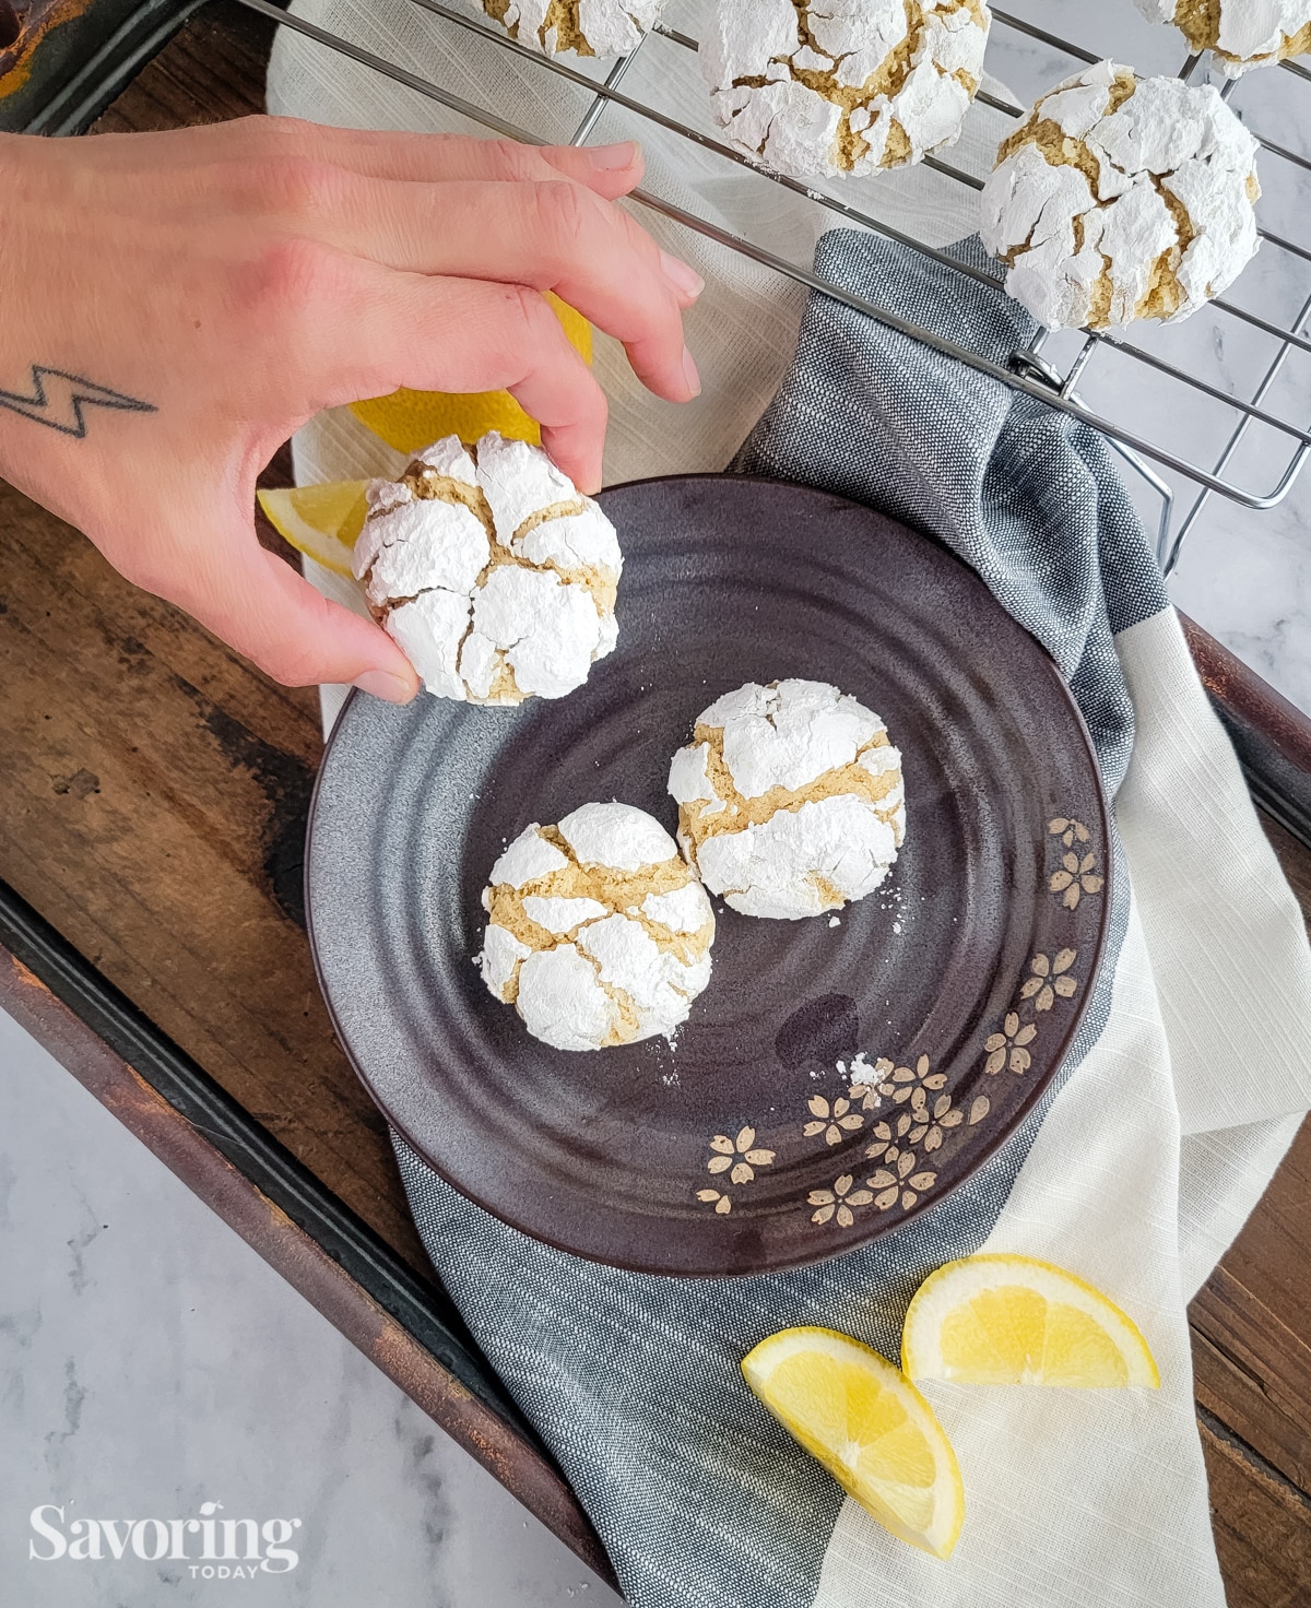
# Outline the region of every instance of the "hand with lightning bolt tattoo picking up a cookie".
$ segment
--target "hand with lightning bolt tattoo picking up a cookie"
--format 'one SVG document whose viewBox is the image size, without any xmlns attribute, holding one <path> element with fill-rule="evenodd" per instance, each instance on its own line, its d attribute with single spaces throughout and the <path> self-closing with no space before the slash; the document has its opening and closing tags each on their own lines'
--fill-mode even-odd
<svg viewBox="0 0 1311 1608">
<path fill-rule="evenodd" d="M 505 388 L 595 490 L 605 397 L 539 291 L 623 341 L 656 396 L 698 391 L 680 309 L 700 280 L 611 204 L 640 174 L 634 145 L 277 117 L 3 135 L 0 473 L 277 680 L 404 703 L 396 643 L 259 545 L 256 476 L 320 408 Z"/>
</svg>

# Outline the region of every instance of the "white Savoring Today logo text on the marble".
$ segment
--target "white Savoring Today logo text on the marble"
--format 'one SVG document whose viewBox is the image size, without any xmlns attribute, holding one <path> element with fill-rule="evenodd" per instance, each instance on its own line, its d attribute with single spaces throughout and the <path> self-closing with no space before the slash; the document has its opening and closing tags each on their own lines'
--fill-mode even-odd
<svg viewBox="0 0 1311 1608">
<path fill-rule="evenodd" d="M 29 1515 L 34 1563 L 90 1560 L 122 1563 L 187 1563 L 191 1579 L 253 1581 L 257 1574 L 290 1574 L 301 1561 L 288 1547 L 298 1518 L 216 1518 L 222 1502 L 201 1502 L 199 1518 L 74 1518 L 47 1502 Z"/>
</svg>

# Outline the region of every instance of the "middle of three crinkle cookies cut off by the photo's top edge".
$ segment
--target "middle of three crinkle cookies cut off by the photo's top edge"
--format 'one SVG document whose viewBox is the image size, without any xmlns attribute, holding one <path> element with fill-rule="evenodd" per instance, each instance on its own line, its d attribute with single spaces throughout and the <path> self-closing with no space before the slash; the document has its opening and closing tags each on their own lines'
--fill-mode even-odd
<svg viewBox="0 0 1311 1608">
<path fill-rule="evenodd" d="M 740 150 L 793 178 L 870 174 L 957 138 L 989 23 L 983 0 L 719 0 L 700 56 Z"/>
</svg>

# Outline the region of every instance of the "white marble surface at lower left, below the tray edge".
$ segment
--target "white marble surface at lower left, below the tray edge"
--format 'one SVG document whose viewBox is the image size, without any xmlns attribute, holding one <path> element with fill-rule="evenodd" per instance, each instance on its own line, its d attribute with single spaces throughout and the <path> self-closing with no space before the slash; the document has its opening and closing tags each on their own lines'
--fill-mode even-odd
<svg viewBox="0 0 1311 1608">
<path fill-rule="evenodd" d="M 42 1503 L 72 1539 L 77 1516 L 204 1502 L 299 1520 L 296 1566 L 204 1579 L 130 1544 L 122 1561 L 29 1558 L 55 1550 L 29 1524 Z M 183 1542 L 196 1561 L 203 1536 Z M 219 1602 L 618 1598 L 0 1013 L 0 1603 Z"/>
</svg>

